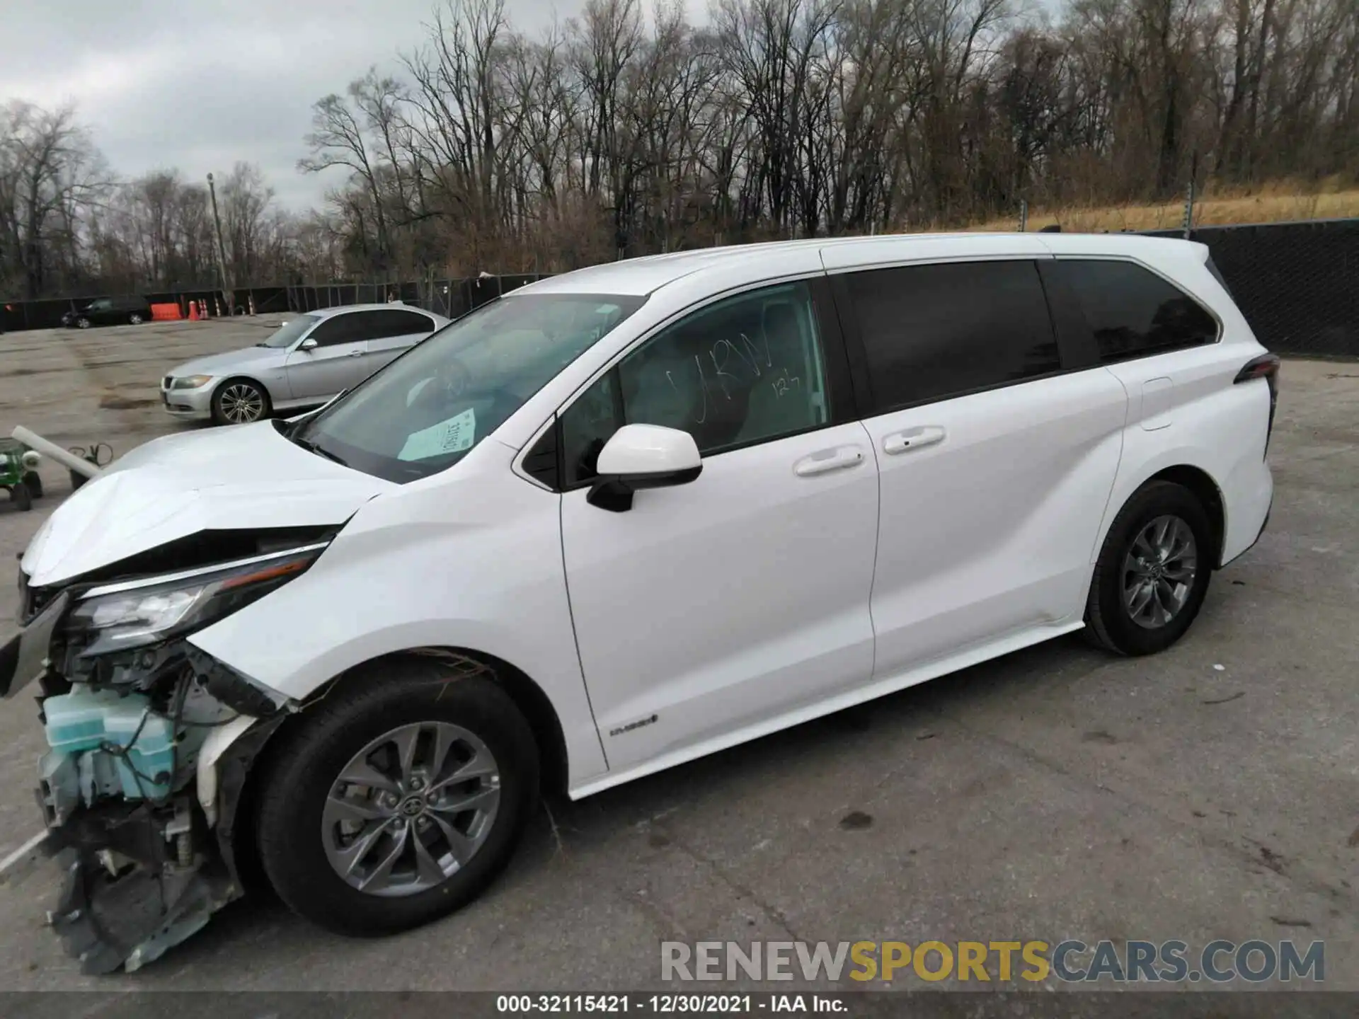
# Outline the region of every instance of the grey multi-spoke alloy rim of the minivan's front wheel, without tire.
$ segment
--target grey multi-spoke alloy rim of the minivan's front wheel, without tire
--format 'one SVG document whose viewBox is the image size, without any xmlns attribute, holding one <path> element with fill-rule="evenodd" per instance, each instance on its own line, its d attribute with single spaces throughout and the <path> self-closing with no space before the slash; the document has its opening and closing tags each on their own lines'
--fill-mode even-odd
<svg viewBox="0 0 1359 1019">
<path fill-rule="evenodd" d="M 447 721 L 371 740 L 336 779 L 321 815 L 330 867 L 370 895 L 414 895 L 465 867 L 491 834 L 500 769 L 473 732 Z"/>
</svg>

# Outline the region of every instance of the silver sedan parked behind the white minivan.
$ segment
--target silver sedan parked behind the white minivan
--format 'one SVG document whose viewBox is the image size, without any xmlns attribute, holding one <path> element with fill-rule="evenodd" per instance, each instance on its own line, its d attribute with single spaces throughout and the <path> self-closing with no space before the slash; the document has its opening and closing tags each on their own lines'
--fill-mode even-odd
<svg viewBox="0 0 1359 1019">
<path fill-rule="evenodd" d="M 275 410 L 319 406 L 448 325 L 405 304 L 310 311 L 254 346 L 173 368 L 160 402 L 175 417 L 249 424 Z"/>
</svg>

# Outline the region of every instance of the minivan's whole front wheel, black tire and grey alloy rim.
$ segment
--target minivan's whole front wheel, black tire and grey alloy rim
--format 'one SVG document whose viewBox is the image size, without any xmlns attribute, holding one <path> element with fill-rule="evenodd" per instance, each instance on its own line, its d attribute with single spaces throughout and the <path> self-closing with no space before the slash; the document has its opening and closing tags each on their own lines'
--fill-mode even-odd
<svg viewBox="0 0 1359 1019">
<path fill-rule="evenodd" d="M 408 931 L 491 884 L 537 789 L 533 732 L 503 687 L 387 659 L 300 716 L 261 776 L 260 861 L 328 931 Z"/>
</svg>

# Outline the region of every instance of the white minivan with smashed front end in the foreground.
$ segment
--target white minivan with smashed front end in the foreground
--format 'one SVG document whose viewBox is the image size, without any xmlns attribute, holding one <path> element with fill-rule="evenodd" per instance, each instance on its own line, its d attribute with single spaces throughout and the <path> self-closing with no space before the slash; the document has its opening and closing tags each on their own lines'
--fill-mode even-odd
<svg viewBox="0 0 1359 1019">
<path fill-rule="evenodd" d="M 401 931 L 542 781 L 1082 628 L 1161 651 L 1265 526 L 1277 367 L 1201 245 L 803 240 L 544 280 L 318 412 L 147 443 L 33 539 L 0 651 L 53 924 L 133 969 L 258 870 Z"/>
</svg>

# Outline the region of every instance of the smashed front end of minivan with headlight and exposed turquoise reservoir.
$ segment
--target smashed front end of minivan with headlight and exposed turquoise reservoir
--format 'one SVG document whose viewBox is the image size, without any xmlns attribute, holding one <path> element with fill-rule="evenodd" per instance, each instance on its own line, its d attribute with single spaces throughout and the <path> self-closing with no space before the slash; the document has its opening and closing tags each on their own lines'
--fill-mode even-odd
<svg viewBox="0 0 1359 1019">
<path fill-rule="evenodd" d="M 82 971 L 135 970 L 242 894 L 245 776 L 298 705 L 188 637 L 302 575 L 333 533 L 200 533 L 48 587 L 20 569 L 0 696 L 37 683 L 37 799 L 64 871 L 49 921 Z"/>
</svg>

